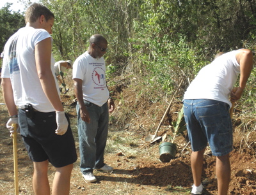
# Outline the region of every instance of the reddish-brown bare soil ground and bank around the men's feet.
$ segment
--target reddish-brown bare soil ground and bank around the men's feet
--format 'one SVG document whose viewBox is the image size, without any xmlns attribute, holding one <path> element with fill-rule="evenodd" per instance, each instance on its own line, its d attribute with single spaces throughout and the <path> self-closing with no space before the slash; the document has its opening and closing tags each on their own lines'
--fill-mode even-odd
<svg viewBox="0 0 256 195">
<path fill-rule="evenodd" d="M 61 100 L 72 122 L 77 155 L 79 155 L 76 100 L 71 82 L 68 83 L 68 87 L 70 90 L 65 95 L 61 94 Z M 175 159 L 170 163 L 162 163 L 159 160 L 159 145 L 163 140 L 152 144 L 145 142 L 145 137 L 156 131 L 168 106 L 168 100 L 159 103 L 150 101 L 146 96 L 140 96 L 138 99 L 136 83 L 124 81 L 116 82 L 116 85 L 110 87 L 110 91 L 115 98 L 116 110 L 109 116 L 109 138 L 105 162 L 115 170 L 113 173 L 95 171 L 97 182 L 87 184 L 81 177 L 78 159 L 72 171 L 70 194 L 190 194 L 193 178 L 190 168 L 191 148 L 189 144 L 187 145 L 186 133 L 184 136 L 179 135 L 175 138 L 178 150 Z M 159 136 L 164 133 L 172 134 L 170 122 L 175 120 L 182 106 L 177 99 L 164 119 Z M 0 100 L 0 103 L 3 103 L 2 97 Z M 254 126 L 254 131 L 249 134 L 244 133 L 244 124 L 241 124 L 239 119 L 240 112 L 237 108 L 232 119 L 234 150 L 230 153 L 232 175 L 228 194 L 256 194 L 255 120 L 246 124 Z M 0 105 L 0 116 L 0 194 L 14 194 L 12 138 L 5 127 L 8 112 L 4 105 Z M 125 139 L 129 141 L 121 142 L 119 147 L 111 145 L 116 140 Z M 33 163 L 28 157 L 19 134 L 17 145 L 19 192 L 33 194 Z M 50 182 L 53 177 L 54 168 L 49 165 Z M 209 194 L 217 194 L 215 157 L 212 156 L 209 148 L 205 152 L 202 181 Z"/>
</svg>

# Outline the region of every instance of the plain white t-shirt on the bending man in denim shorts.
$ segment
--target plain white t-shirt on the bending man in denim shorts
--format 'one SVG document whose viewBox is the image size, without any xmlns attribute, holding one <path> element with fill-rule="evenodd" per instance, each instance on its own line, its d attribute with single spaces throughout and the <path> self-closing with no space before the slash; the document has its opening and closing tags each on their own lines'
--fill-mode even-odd
<svg viewBox="0 0 256 195">
<path fill-rule="evenodd" d="M 214 99 L 228 103 L 231 107 L 228 96 L 240 73 L 237 51 L 220 55 L 202 68 L 186 90 L 184 99 Z"/>
</svg>

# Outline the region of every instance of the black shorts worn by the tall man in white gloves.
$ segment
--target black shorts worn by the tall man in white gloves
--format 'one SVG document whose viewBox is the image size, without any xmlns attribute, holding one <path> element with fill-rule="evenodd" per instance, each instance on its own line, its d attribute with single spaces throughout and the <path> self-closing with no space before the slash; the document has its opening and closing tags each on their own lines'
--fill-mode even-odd
<svg viewBox="0 0 256 195">
<path fill-rule="evenodd" d="M 33 119 L 29 119 L 25 111 L 19 109 L 20 135 L 33 162 L 49 160 L 56 168 L 76 162 L 75 141 L 68 117 L 67 120 L 68 130 L 60 136 L 55 133 L 55 112 L 34 112 Z"/>
</svg>

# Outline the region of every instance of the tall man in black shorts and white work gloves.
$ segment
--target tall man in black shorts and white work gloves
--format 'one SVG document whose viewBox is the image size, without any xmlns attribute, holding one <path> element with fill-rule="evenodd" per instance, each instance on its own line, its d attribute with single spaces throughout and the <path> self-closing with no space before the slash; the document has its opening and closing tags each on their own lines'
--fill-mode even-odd
<svg viewBox="0 0 256 195">
<path fill-rule="evenodd" d="M 26 27 L 13 34 L 4 46 L 2 87 L 10 115 L 6 127 L 12 134 L 12 124 L 19 124 L 33 161 L 35 194 L 69 194 L 77 155 L 51 66 L 54 15 L 34 3 L 25 19 Z M 47 176 L 49 162 L 56 168 L 52 190 Z"/>
</svg>

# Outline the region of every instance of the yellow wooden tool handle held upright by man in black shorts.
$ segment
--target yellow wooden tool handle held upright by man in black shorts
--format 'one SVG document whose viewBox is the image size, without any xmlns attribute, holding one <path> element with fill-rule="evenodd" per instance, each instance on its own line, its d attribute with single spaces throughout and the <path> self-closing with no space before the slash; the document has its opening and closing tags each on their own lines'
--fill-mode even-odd
<svg viewBox="0 0 256 195">
<path fill-rule="evenodd" d="M 12 127 L 14 130 L 14 132 L 12 133 L 14 184 L 15 184 L 15 195 L 18 195 L 19 179 L 18 179 L 18 155 L 17 155 L 17 124 L 12 124 Z"/>
</svg>

